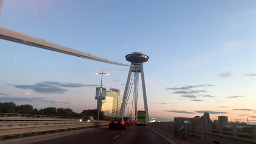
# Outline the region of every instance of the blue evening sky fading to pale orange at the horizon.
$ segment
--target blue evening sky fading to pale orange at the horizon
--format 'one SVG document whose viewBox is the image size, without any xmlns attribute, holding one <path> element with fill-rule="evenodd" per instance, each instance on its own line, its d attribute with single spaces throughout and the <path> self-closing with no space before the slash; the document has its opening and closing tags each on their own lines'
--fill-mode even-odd
<svg viewBox="0 0 256 144">
<path fill-rule="evenodd" d="M 129 64 L 142 52 L 150 117 L 256 124 L 256 1 L 8 0 L 0 26 Z M 95 87 L 124 92 L 129 67 L 0 40 L 0 101 L 96 109 Z M 140 82 L 141 83 L 141 82 Z M 143 109 L 139 87 L 138 108 Z"/>
</svg>

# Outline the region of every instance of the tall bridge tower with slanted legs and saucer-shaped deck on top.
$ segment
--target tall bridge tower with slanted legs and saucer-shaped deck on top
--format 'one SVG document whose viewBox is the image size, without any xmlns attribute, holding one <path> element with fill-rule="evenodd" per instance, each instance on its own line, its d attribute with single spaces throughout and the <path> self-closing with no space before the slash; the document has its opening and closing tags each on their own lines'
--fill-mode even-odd
<svg viewBox="0 0 256 144">
<path fill-rule="evenodd" d="M 126 58 L 126 61 L 131 62 L 131 66 L 130 66 L 129 74 L 128 74 L 126 85 L 125 85 L 125 91 L 124 91 L 123 101 L 121 103 L 119 116 L 123 117 L 125 115 L 127 103 L 129 101 L 131 91 L 133 89 L 132 108 L 134 106 L 134 112 L 135 112 L 134 114 L 135 114 L 135 117 L 137 117 L 139 75 L 141 75 L 144 110 L 146 111 L 147 123 L 148 123 L 149 115 L 148 115 L 148 103 L 147 103 L 143 63 L 147 62 L 149 57 L 147 55 L 142 54 L 141 52 L 133 52 L 129 55 L 126 55 L 125 58 Z"/>
</svg>

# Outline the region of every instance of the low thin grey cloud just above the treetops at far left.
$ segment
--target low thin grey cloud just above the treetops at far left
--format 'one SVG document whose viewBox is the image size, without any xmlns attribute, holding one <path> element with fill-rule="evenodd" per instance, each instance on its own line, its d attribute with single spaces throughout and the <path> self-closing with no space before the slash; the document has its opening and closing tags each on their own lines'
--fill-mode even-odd
<svg viewBox="0 0 256 144">
<path fill-rule="evenodd" d="M 12 101 L 12 102 L 28 102 L 28 103 L 38 103 L 38 102 L 45 102 L 55 105 L 56 103 L 63 103 L 63 104 L 69 104 L 67 102 L 59 102 L 55 100 L 45 100 L 45 98 L 42 97 L 34 97 L 34 98 L 26 98 L 26 97 L 0 97 L 0 101 Z"/>
</svg>

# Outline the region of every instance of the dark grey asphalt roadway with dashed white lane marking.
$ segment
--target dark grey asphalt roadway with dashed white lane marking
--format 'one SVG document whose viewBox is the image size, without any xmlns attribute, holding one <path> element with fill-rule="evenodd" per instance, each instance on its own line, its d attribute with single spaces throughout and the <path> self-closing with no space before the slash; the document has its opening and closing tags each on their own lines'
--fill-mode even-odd
<svg viewBox="0 0 256 144">
<path fill-rule="evenodd" d="M 88 131 L 85 133 L 59 137 L 56 139 L 36 142 L 37 144 L 69 144 L 69 143 L 161 143 L 170 144 L 148 126 L 131 125 L 126 130 L 108 128 Z M 34 144 L 36 144 L 34 143 Z"/>
</svg>

